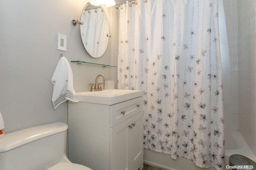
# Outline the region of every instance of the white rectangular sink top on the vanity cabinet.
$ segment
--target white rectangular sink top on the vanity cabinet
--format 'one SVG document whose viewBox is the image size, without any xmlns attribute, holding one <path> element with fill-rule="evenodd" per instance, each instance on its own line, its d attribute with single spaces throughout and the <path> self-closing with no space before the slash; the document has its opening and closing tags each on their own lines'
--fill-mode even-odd
<svg viewBox="0 0 256 170">
<path fill-rule="evenodd" d="M 80 102 L 113 105 L 143 95 L 142 90 L 102 90 L 98 92 L 77 92 Z"/>
</svg>

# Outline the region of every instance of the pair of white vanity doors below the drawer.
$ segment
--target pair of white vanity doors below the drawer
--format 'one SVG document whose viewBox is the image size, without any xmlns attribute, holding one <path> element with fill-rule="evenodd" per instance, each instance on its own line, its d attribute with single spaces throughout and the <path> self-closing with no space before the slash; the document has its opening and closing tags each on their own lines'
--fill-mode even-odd
<svg viewBox="0 0 256 170">
<path fill-rule="evenodd" d="M 111 170 L 131 170 L 141 158 L 142 130 L 142 111 L 110 128 Z"/>
</svg>

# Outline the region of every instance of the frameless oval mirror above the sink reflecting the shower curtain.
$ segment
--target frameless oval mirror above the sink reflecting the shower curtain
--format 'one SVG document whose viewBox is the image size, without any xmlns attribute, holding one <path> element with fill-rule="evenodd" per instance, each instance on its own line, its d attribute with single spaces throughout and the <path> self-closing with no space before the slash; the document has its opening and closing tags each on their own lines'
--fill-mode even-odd
<svg viewBox="0 0 256 170">
<path fill-rule="evenodd" d="M 82 11 L 80 32 L 82 42 L 87 53 L 94 57 L 101 57 L 108 46 L 108 18 L 102 6 L 94 6 L 88 2 Z"/>
</svg>

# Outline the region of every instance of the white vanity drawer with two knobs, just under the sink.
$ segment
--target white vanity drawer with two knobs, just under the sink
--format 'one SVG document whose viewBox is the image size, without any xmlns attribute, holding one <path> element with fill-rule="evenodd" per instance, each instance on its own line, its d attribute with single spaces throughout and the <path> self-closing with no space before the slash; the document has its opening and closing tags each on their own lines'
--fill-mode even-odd
<svg viewBox="0 0 256 170">
<path fill-rule="evenodd" d="M 110 127 L 142 111 L 142 97 L 110 106 Z"/>
</svg>

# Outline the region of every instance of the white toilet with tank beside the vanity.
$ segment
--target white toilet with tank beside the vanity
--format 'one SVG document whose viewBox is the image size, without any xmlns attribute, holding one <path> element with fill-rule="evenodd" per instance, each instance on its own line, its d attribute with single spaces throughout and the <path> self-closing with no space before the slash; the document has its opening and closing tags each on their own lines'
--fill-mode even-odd
<svg viewBox="0 0 256 170">
<path fill-rule="evenodd" d="M 68 125 L 30 127 L 0 139 L 0 170 L 92 170 L 66 156 Z"/>
</svg>

